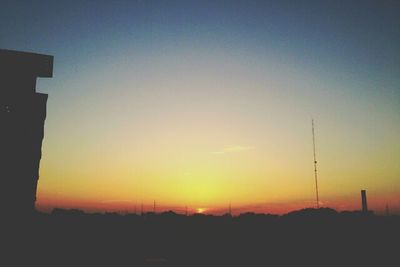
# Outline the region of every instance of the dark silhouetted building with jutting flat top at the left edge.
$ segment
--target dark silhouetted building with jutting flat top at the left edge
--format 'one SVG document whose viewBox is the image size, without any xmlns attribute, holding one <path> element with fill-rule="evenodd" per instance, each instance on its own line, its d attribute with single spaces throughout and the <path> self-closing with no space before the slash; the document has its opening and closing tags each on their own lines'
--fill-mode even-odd
<svg viewBox="0 0 400 267">
<path fill-rule="evenodd" d="M 0 49 L 0 175 L 4 212 L 34 211 L 47 94 L 37 77 L 52 77 L 53 57 Z"/>
</svg>

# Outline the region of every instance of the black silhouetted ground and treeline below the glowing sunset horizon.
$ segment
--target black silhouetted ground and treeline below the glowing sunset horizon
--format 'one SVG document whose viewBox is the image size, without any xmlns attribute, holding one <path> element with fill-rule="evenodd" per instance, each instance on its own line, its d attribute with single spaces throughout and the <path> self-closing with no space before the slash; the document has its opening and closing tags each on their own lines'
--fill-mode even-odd
<svg viewBox="0 0 400 267">
<path fill-rule="evenodd" d="M 399 222 L 330 209 L 238 217 L 57 210 L 2 227 L 8 264 L 0 265 L 394 266 Z"/>
</svg>

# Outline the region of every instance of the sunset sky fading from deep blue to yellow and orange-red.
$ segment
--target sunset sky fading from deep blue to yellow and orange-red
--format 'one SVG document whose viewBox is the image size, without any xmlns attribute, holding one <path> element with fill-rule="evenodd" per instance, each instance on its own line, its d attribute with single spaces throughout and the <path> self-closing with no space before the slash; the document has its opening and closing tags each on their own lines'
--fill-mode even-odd
<svg viewBox="0 0 400 267">
<path fill-rule="evenodd" d="M 397 1 L 1 1 L 54 56 L 36 207 L 400 213 Z"/>
</svg>

